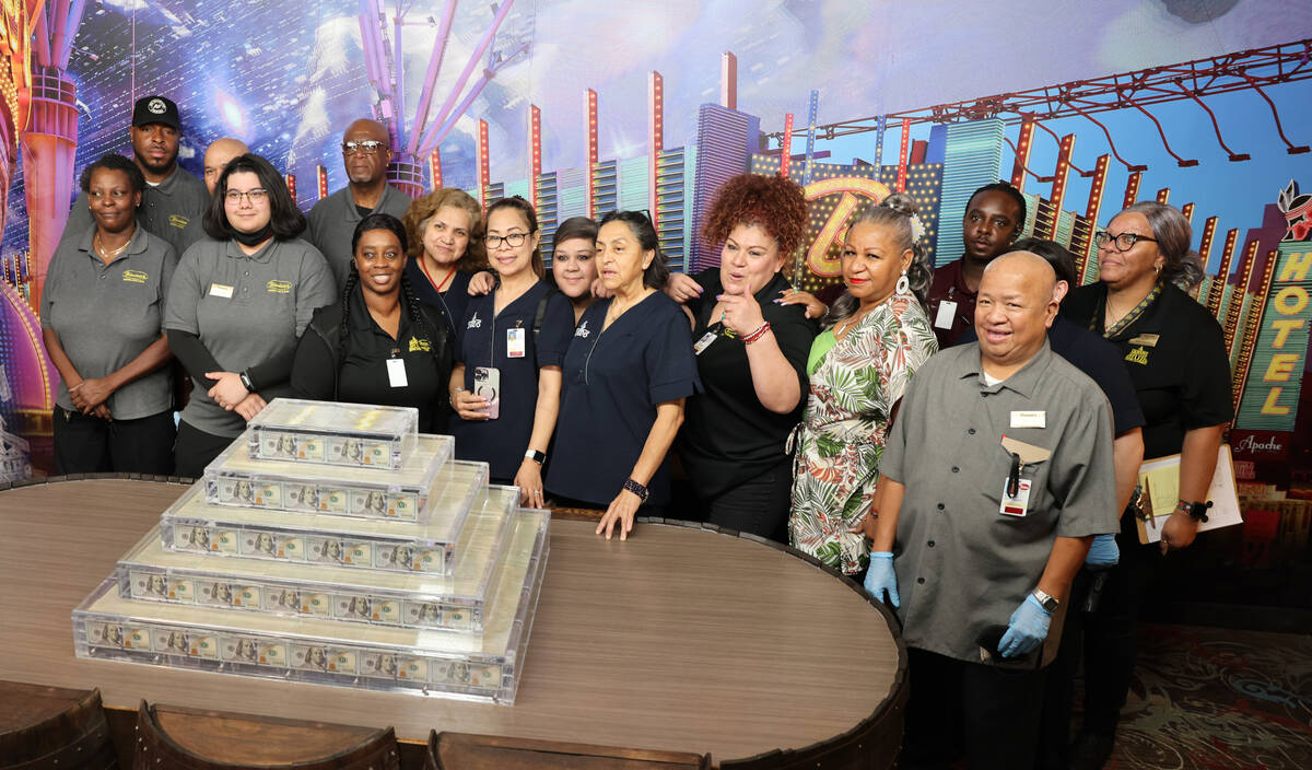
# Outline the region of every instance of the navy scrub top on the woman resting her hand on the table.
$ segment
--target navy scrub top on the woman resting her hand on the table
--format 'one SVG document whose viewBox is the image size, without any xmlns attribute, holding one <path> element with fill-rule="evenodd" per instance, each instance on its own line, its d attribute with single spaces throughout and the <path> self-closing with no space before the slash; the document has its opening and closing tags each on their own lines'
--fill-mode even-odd
<svg viewBox="0 0 1312 770">
<path fill-rule="evenodd" d="M 579 319 L 564 363 L 555 463 L 547 489 L 605 508 L 634 472 L 656 422 L 656 405 L 702 391 L 684 310 L 656 291 L 601 331 L 610 299 Z M 669 504 L 669 468 L 647 484 L 648 505 Z"/>
</svg>

